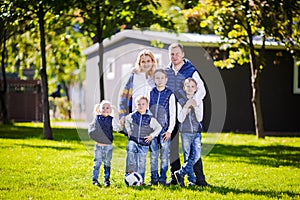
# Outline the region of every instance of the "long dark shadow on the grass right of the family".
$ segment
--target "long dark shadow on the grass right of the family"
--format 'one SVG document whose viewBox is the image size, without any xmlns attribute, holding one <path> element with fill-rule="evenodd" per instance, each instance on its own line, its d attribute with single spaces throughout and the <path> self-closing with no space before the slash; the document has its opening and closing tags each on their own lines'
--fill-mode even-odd
<svg viewBox="0 0 300 200">
<path fill-rule="evenodd" d="M 300 168 L 300 147 L 216 144 L 209 156 L 216 157 L 219 161 L 238 158 L 239 162 L 250 164 Z"/>
</svg>

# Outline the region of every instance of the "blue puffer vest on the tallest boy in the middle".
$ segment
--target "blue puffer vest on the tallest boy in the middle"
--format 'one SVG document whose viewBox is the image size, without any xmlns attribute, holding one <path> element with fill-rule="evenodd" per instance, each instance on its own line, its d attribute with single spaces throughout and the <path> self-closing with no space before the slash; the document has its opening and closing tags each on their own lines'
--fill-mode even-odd
<svg viewBox="0 0 300 200">
<path fill-rule="evenodd" d="M 158 91 L 155 87 L 150 92 L 150 111 L 163 127 L 163 131 L 167 131 L 169 127 L 169 99 L 171 94 L 173 94 L 173 92 L 169 88 Z"/>
</svg>

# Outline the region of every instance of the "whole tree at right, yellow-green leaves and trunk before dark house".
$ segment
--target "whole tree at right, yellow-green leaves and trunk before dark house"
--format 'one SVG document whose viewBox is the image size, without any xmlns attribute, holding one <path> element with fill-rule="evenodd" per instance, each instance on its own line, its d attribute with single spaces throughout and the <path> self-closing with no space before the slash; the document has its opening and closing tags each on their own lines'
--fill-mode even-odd
<svg viewBox="0 0 300 200">
<path fill-rule="evenodd" d="M 214 25 L 215 32 L 229 49 L 228 59 L 217 61 L 215 65 L 233 67 L 235 64 L 249 63 L 255 132 L 258 138 L 264 138 L 260 74 L 265 66 L 265 44 L 267 40 L 275 40 L 285 44 L 291 53 L 299 49 L 299 2 L 204 0 L 194 9 L 203 8 L 207 10 L 207 17 L 200 25 Z M 259 49 L 254 46 L 254 37 L 261 39 Z"/>
</svg>

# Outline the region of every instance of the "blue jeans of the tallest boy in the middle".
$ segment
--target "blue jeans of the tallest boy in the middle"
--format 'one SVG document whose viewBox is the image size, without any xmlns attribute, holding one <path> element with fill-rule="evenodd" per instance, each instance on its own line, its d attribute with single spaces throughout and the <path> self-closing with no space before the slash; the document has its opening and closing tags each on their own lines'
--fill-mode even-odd
<svg viewBox="0 0 300 200">
<path fill-rule="evenodd" d="M 169 165 L 170 140 L 163 140 L 163 133 L 155 137 L 150 145 L 151 181 L 166 182 Z M 160 154 L 160 176 L 158 175 L 158 154 Z"/>
</svg>

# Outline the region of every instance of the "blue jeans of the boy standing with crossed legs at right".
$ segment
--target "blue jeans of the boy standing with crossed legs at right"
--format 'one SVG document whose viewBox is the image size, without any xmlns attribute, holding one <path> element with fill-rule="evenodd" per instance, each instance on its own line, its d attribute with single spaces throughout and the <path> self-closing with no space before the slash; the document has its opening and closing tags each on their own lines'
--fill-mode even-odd
<svg viewBox="0 0 300 200">
<path fill-rule="evenodd" d="M 180 169 L 182 176 L 188 175 L 188 180 L 196 183 L 193 166 L 201 156 L 201 134 L 181 133 L 184 164 Z"/>
</svg>

